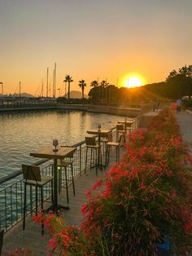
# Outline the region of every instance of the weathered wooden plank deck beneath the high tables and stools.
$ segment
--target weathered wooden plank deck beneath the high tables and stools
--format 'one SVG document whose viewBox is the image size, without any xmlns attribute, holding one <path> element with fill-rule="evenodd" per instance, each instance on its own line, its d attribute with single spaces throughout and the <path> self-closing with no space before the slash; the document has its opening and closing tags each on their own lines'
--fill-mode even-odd
<svg viewBox="0 0 192 256">
<path fill-rule="evenodd" d="M 114 165 L 116 162 L 115 156 L 116 152 L 111 152 L 109 166 L 106 168 L 106 170 L 98 170 L 98 176 L 96 176 L 95 169 L 93 168 L 91 170 L 87 170 L 86 174 L 82 174 L 76 178 L 76 196 L 73 196 L 72 194 L 72 187 L 69 188 L 70 210 L 62 210 L 68 225 L 81 224 L 81 221 L 83 220 L 83 215 L 81 214 L 81 205 L 85 202 L 85 190 L 92 188 L 93 183 L 99 177 L 102 177 L 110 166 Z M 67 203 L 65 188 L 63 188 L 61 194 L 59 195 L 59 203 L 63 205 Z M 22 224 L 23 222 L 20 221 L 20 223 L 17 223 L 15 227 L 11 228 L 11 230 L 5 234 L 2 246 L 2 255 L 7 255 L 15 248 L 26 248 L 35 256 L 49 255 L 49 249 L 46 248 L 46 245 L 48 244 L 50 235 L 45 233 L 44 236 L 41 236 L 41 225 L 33 223 L 32 216 L 28 216 L 24 231 Z M 55 253 L 54 255 L 57 254 Z"/>
</svg>

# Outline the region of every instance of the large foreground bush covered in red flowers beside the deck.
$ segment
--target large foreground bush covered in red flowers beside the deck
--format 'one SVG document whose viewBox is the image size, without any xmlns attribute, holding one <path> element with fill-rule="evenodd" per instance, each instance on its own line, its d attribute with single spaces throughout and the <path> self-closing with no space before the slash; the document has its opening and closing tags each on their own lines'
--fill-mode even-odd
<svg viewBox="0 0 192 256">
<path fill-rule="evenodd" d="M 164 236 L 182 255 L 192 231 L 189 160 L 172 107 L 129 135 L 123 160 L 86 192 L 80 228 L 54 214 L 36 220 L 44 218 L 49 246 L 66 255 L 157 255 Z"/>
</svg>

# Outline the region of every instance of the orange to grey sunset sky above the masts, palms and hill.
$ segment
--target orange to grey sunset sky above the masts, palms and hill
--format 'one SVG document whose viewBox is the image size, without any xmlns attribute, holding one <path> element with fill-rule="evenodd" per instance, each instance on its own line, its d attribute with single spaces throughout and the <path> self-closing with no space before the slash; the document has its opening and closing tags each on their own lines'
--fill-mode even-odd
<svg viewBox="0 0 192 256">
<path fill-rule="evenodd" d="M 129 73 L 164 81 L 192 64 L 191 12 L 192 0 L 0 0 L 4 93 L 18 93 L 21 82 L 38 95 L 47 67 L 52 84 L 55 62 L 61 90 L 66 74 L 71 90 L 84 79 L 85 93 L 97 79 L 124 86 Z"/>
</svg>

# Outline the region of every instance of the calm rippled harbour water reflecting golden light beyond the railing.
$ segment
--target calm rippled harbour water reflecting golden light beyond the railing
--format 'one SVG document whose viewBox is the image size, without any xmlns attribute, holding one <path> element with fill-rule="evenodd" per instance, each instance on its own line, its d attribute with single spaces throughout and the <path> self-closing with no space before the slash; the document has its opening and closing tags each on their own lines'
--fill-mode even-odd
<svg viewBox="0 0 192 256">
<path fill-rule="evenodd" d="M 122 118 L 122 117 L 121 117 Z M 77 111 L 49 111 L 0 114 L 0 178 L 20 170 L 21 164 L 39 159 L 29 157 L 34 149 L 52 146 L 53 139 L 61 145 L 72 145 L 85 139 L 86 130 L 116 126 L 120 117 Z"/>
</svg>

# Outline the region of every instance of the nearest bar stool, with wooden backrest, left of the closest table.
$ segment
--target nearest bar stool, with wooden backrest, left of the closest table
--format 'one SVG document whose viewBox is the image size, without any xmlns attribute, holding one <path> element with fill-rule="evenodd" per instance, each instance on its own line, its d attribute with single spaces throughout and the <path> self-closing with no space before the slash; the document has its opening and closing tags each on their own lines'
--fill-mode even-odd
<svg viewBox="0 0 192 256">
<path fill-rule="evenodd" d="M 35 187 L 35 213 L 37 215 L 37 207 L 38 207 L 38 188 L 40 189 L 41 193 L 41 210 L 43 210 L 43 187 L 47 183 L 51 183 L 51 200 L 53 202 L 53 176 L 42 176 L 40 173 L 39 166 L 29 166 L 29 165 L 22 165 L 22 171 L 24 176 L 24 222 L 23 222 L 23 229 L 25 229 L 25 218 L 26 218 L 26 211 L 27 211 L 27 186 Z M 41 234 L 44 234 L 44 223 L 41 223 Z"/>
</svg>

